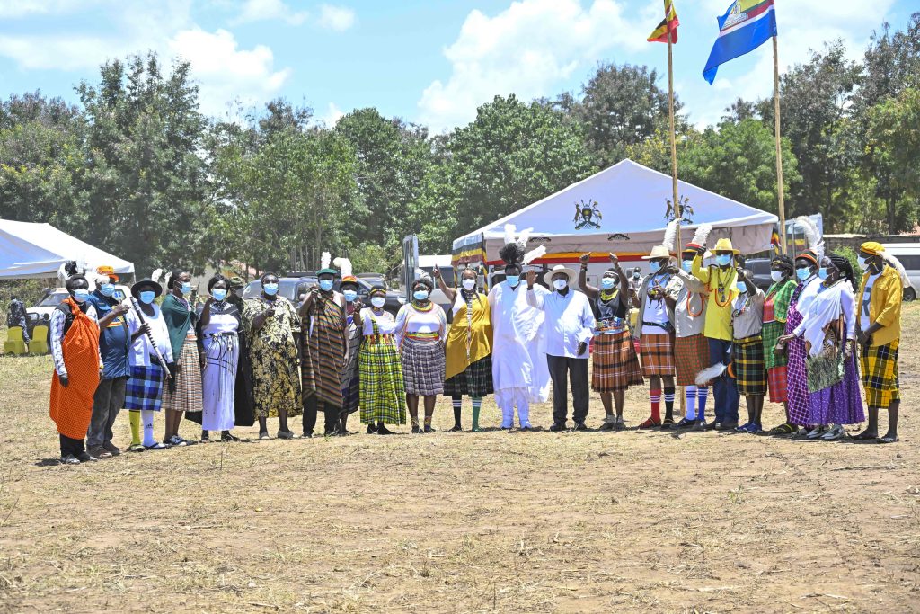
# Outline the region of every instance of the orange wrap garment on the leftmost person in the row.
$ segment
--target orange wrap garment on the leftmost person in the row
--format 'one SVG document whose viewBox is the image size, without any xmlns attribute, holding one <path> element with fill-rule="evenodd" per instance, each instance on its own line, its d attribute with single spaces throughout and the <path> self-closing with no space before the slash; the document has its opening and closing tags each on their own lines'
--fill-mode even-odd
<svg viewBox="0 0 920 614">
<path fill-rule="evenodd" d="M 61 386 L 57 373 L 52 377 L 52 402 L 49 414 L 58 433 L 72 439 L 86 437 L 93 414 L 93 395 L 99 384 L 99 327 L 77 306 L 73 298 L 64 303 L 75 315 L 61 347 L 67 368 L 67 388 Z"/>
</svg>

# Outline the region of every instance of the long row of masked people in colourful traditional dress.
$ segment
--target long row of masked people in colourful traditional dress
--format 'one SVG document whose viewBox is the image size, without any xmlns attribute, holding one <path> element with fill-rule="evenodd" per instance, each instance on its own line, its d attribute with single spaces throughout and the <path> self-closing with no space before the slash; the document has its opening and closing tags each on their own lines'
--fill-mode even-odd
<svg viewBox="0 0 920 614">
<path fill-rule="evenodd" d="M 130 451 L 204 443 L 218 432 L 222 441 L 237 441 L 233 429 L 257 420 L 259 439 L 267 439 L 270 417 L 278 418 L 278 438 L 312 437 L 320 412 L 325 435 L 348 434 L 348 418 L 359 410 L 369 434 L 392 434 L 388 426 L 406 424 L 407 412 L 412 433 L 430 433 L 442 395 L 452 400 L 454 431 L 464 428 L 464 397 L 471 402 L 472 430 L 480 429 L 489 395 L 500 408 L 502 429 L 516 424 L 527 431 L 535 429 L 530 405 L 548 399 L 550 383 L 550 431 L 569 428 L 569 390 L 574 430 L 588 429 L 593 390 L 604 405 L 601 430 L 618 431 L 626 428 L 627 388 L 646 380 L 650 416 L 640 429 L 762 433 L 769 393 L 787 411 L 786 422 L 769 433 L 830 440 L 865 420 L 860 371 L 868 427 L 857 439 L 897 441 L 897 262 L 879 244 L 866 243 L 857 282 L 845 258 L 812 246 L 794 261 L 777 256 L 774 284 L 765 293 L 730 239 L 719 239 L 706 265 L 706 236 L 703 227 L 676 266 L 667 240 L 652 249 L 645 257 L 651 272 L 638 288 L 631 288 L 615 254 L 599 287 L 588 283 L 588 254 L 580 272 L 558 265 L 546 272 L 544 285 L 524 268 L 545 249 L 527 252 L 526 233 L 515 237 L 506 228 L 505 279 L 488 295 L 480 292 L 475 269 L 461 272 L 456 288 L 435 270 L 434 279 L 422 276 L 411 285 L 396 316 L 385 310 L 381 285 L 363 305 L 351 262 L 330 262 L 328 253 L 316 286 L 297 307 L 278 294 L 271 272 L 261 276 L 260 294 L 247 300 L 237 292 L 242 280 L 215 275 L 200 309 L 190 301 L 188 271 L 171 272 L 166 288 L 156 279 L 133 284 L 130 305 L 114 297 L 118 278 L 110 267 L 88 279 L 74 274 L 51 319 L 51 417 L 62 461 L 120 454 L 112 425 L 122 408 L 130 411 Z M 450 302 L 451 324 L 431 301 L 435 282 Z M 628 319 L 633 295 L 635 326 Z M 679 422 L 676 386 L 686 395 Z M 743 424 L 741 395 L 748 411 Z M 889 429 L 879 437 L 882 409 L 889 412 Z M 157 440 L 161 411 L 165 428 Z M 288 419 L 300 414 L 302 430 L 294 434 Z M 201 424 L 196 440 L 179 434 L 183 417 Z"/>
</svg>

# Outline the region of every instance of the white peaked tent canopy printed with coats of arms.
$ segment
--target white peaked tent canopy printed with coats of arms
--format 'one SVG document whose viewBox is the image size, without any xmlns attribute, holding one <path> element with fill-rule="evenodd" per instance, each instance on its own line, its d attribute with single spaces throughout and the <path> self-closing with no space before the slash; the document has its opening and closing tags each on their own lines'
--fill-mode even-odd
<svg viewBox="0 0 920 614">
<path fill-rule="evenodd" d="M 713 226 L 709 245 L 722 237 L 736 249 L 751 254 L 771 249 L 770 237 L 778 218 L 730 198 L 678 181 L 678 193 L 692 208 L 684 212 L 681 226 L 686 243 L 696 227 Z M 518 232 L 533 228 L 528 249 L 546 246 L 546 256 L 537 263 L 577 261 L 592 252 L 592 261 L 605 260 L 615 252 L 621 260 L 634 261 L 661 245 L 667 226 L 667 202 L 673 199 L 669 175 L 622 160 L 591 177 L 573 183 L 545 199 L 483 226 L 454 240 L 454 265 L 486 261 L 500 263 L 504 226 Z"/>
</svg>

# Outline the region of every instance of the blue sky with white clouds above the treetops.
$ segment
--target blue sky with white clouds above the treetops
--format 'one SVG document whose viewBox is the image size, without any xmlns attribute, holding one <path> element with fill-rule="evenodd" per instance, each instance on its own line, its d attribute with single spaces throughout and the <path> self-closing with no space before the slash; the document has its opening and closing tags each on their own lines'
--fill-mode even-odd
<svg viewBox="0 0 920 614">
<path fill-rule="evenodd" d="M 724 65 L 714 86 L 703 80 L 728 5 L 675 0 L 675 90 L 697 124 L 772 92 L 769 45 Z M 835 38 L 856 58 L 882 21 L 903 29 L 912 10 L 920 0 L 776 0 L 780 65 Z M 599 62 L 666 75 L 665 46 L 645 41 L 661 13 L 661 0 L 0 0 L 0 96 L 75 100 L 107 58 L 153 49 L 190 60 L 209 115 L 283 96 L 317 122 L 374 106 L 443 132 L 497 94 L 578 93 Z"/>
</svg>

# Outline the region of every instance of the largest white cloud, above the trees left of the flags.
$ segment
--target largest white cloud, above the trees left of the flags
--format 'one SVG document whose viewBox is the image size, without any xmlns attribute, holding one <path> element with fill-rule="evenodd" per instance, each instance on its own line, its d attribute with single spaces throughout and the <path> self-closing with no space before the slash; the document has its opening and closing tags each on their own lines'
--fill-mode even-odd
<svg viewBox="0 0 920 614">
<path fill-rule="evenodd" d="M 496 94 L 536 98 L 614 47 L 631 51 L 645 37 L 615 0 L 520 0 L 495 17 L 473 10 L 444 50 L 452 73 L 435 80 L 419 100 L 420 122 L 435 132 L 469 122 Z"/>
</svg>

